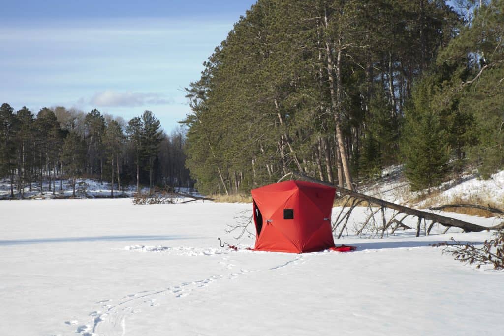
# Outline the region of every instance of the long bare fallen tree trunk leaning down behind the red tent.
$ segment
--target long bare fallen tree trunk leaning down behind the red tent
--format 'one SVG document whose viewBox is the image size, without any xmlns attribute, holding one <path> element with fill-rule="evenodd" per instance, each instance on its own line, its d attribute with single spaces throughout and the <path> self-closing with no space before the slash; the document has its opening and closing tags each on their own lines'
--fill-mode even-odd
<svg viewBox="0 0 504 336">
<path fill-rule="evenodd" d="M 301 178 L 303 178 L 303 179 L 305 179 L 307 181 L 310 181 L 310 182 L 320 183 L 320 184 L 324 184 L 324 185 L 336 188 L 336 191 L 339 192 L 340 195 L 349 195 L 349 196 L 352 196 L 352 197 L 355 197 L 355 198 L 358 198 L 358 199 L 365 200 L 368 203 L 372 203 L 372 204 L 380 205 L 382 207 L 394 209 L 394 210 L 397 210 L 397 211 L 402 212 L 404 214 L 415 216 L 415 217 L 418 217 L 418 218 L 421 218 L 421 219 L 424 219 L 424 220 L 437 222 L 437 223 L 439 223 L 441 225 L 444 225 L 444 226 L 447 226 L 447 227 L 452 227 L 453 226 L 453 227 L 461 228 L 461 229 L 463 229 L 466 232 L 478 232 L 478 231 L 484 231 L 484 230 L 494 230 L 494 229 L 498 229 L 498 228 L 502 227 L 502 224 L 499 224 L 499 225 L 496 225 L 496 226 L 492 226 L 492 227 L 484 227 L 484 226 L 481 226 L 481 225 L 477 225 L 477 224 L 461 221 L 459 219 L 445 217 L 445 216 L 440 216 L 440 215 L 433 214 L 433 213 L 430 213 L 430 212 L 427 212 L 427 211 L 422 211 L 422 210 L 418 210 L 418 209 L 412 209 L 412 208 L 408 208 L 408 207 L 405 207 L 405 206 L 401 206 L 399 204 L 395 204 L 395 203 L 389 202 L 387 200 L 383 200 L 383 199 L 380 199 L 380 198 L 375 198 L 375 197 L 368 196 L 368 195 L 365 195 L 365 194 L 362 194 L 362 193 L 359 193 L 359 192 L 356 192 L 356 191 L 352 191 L 352 190 L 348 190 L 348 189 L 345 189 L 345 188 L 341 188 L 341 187 L 335 186 L 333 184 L 329 184 L 329 183 L 326 183 L 324 181 L 318 180 L 316 178 L 309 177 L 309 176 L 304 175 L 304 174 L 292 172 L 292 175 L 301 177 Z"/>
</svg>

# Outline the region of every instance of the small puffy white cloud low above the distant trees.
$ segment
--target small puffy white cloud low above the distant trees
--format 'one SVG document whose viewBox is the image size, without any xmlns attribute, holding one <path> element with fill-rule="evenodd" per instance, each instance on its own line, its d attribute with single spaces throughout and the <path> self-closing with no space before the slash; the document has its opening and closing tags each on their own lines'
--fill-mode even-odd
<svg viewBox="0 0 504 336">
<path fill-rule="evenodd" d="M 166 98 L 159 93 L 117 92 L 112 90 L 97 92 L 89 99 L 89 105 L 100 107 L 135 107 L 173 103 L 172 98 Z"/>
</svg>

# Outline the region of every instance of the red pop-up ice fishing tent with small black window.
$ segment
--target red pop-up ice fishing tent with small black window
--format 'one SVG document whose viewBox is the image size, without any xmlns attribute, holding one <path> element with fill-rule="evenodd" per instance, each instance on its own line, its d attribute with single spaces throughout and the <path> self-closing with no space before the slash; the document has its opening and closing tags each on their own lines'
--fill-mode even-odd
<svg viewBox="0 0 504 336">
<path fill-rule="evenodd" d="M 334 247 L 331 211 L 335 188 L 284 181 L 251 190 L 256 250 L 314 252 Z"/>
</svg>

